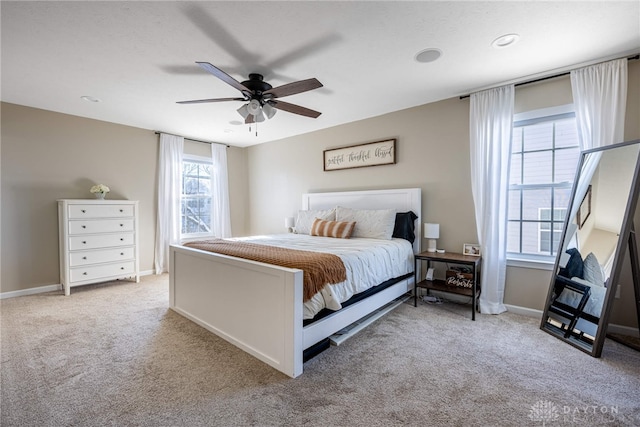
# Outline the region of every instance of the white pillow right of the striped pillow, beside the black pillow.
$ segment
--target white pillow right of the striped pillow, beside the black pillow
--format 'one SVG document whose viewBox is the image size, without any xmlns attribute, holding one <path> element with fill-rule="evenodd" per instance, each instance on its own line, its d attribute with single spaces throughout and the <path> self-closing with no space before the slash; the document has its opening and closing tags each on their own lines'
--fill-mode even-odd
<svg viewBox="0 0 640 427">
<path fill-rule="evenodd" d="M 336 221 L 355 222 L 352 237 L 391 240 L 396 225 L 396 210 L 364 210 L 338 206 Z"/>
</svg>

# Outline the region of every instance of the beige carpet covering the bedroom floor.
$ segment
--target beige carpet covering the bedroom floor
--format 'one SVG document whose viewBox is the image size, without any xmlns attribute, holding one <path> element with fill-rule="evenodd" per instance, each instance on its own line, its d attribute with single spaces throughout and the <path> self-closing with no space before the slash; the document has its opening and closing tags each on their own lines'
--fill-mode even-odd
<svg viewBox="0 0 640 427">
<path fill-rule="evenodd" d="M 4 299 L 4 426 L 632 426 L 640 353 L 403 304 L 290 379 L 168 309 L 167 276 Z"/>
</svg>

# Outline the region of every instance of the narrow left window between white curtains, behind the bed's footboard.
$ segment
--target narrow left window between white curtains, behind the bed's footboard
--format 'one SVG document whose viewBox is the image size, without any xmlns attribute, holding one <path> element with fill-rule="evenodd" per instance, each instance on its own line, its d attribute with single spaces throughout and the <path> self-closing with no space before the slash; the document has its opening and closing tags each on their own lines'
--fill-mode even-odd
<svg viewBox="0 0 640 427">
<path fill-rule="evenodd" d="M 211 234 L 210 159 L 185 156 L 182 162 L 182 236 Z"/>
</svg>

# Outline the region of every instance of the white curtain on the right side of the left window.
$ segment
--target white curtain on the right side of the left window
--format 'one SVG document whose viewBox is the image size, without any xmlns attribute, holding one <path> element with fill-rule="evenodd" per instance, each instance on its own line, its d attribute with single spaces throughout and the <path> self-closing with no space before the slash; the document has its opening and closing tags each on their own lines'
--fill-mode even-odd
<svg viewBox="0 0 640 427">
<path fill-rule="evenodd" d="M 229 177 L 227 147 L 211 144 L 211 230 L 216 237 L 231 237 L 231 211 L 229 208 Z"/>
</svg>

